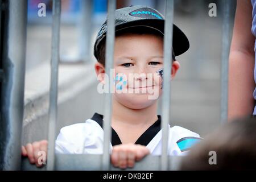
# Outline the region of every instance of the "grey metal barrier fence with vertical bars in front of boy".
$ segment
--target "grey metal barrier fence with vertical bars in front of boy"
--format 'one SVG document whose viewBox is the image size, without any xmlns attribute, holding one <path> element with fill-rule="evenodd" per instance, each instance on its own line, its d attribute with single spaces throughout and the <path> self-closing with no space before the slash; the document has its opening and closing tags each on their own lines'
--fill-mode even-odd
<svg viewBox="0 0 256 182">
<path fill-rule="evenodd" d="M 5 1 L 6 2 L 6 1 Z M 4 43 L 8 44 L 3 52 L 3 71 L 6 71 L 1 80 L 1 144 L 0 158 L 1 169 L 19 169 L 20 165 L 20 136 L 22 129 L 22 113 L 23 113 L 23 93 L 24 93 L 24 44 L 26 39 L 26 0 L 7 1 L 7 9 L 9 9 L 8 27 L 6 28 Z M 228 55 L 229 55 L 229 6 L 230 1 L 224 3 L 224 20 L 223 20 L 223 42 L 222 42 L 222 76 L 221 76 L 221 121 L 227 118 L 227 97 L 228 97 Z M 1 2 L 1 7 L 2 7 Z M 106 35 L 106 73 L 110 75 L 110 69 L 113 67 L 114 53 L 114 11 L 116 1 L 108 1 L 108 32 Z M 14 13 L 15 12 L 15 13 Z M 49 125 L 48 125 L 48 155 L 47 170 L 117 170 L 110 165 L 109 141 L 111 140 L 111 114 L 112 114 L 112 94 L 105 95 L 105 113 L 104 113 L 104 153 L 103 155 L 68 155 L 55 154 L 55 128 L 57 117 L 57 78 L 59 65 L 59 44 L 60 44 L 60 15 L 61 1 L 53 0 L 52 11 L 52 56 L 51 56 L 51 88 L 49 103 Z M 174 17 L 174 0 L 166 0 L 166 21 L 164 24 L 164 88 L 162 102 L 162 155 L 148 155 L 136 166 L 129 170 L 176 170 L 179 169 L 180 156 L 169 156 L 168 148 L 168 123 L 170 123 L 170 107 L 171 107 L 171 84 L 167 79 L 171 74 L 171 51 L 172 47 L 172 22 Z M 2 23 L 1 23 L 2 25 Z M 20 31 L 22 30 L 22 31 Z M 7 36 L 8 35 L 8 36 Z M 17 41 L 14 38 L 21 38 Z M 25 36 L 26 37 L 26 36 Z M 1 39 L 2 40 L 2 39 Z M 14 46 L 15 42 L 15 46 Z M 2 42 L 1 42 L 2 45 Z M 15 50 L 14 50 L 15 49 Z M 18 51 L 18 55 L 16 55 Z M 14 53 L 15 52 L 15 53 Z M 2 56 L 2 52 L 1 52 Z M 14 56 L 14 57 L 13 57 Z M 13 63 L 13 67 L 8 65 Z M 10 69 L 12 68 L 12 69 Z M 6 78 L 6 80 L 5 80 Z M 11 79 L 13 78 L 13 80 Z M 3 105 L 5 103 L 5 105 Z M 5 131 L 5 132 L 2 132 Z M 10 152 L 11 151 L 11 152 Z M 15 151 L 15 152 L 14 152 Z M 11 156 L 10 156 L 11 155 Z M 38 169 L 32 166 L 28 159 L 23 160 L 22 169 Z"/>
</svg>

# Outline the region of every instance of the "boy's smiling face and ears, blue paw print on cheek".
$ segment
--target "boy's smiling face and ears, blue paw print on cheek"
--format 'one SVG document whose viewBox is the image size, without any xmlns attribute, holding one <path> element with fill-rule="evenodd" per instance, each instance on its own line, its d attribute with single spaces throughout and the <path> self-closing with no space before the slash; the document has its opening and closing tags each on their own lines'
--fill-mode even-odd
<svg viewBox="0 0 256 182">
<path fill-rule="evenodd" d="M 172 77 L 179 63 L 172 65 Z M 105 73 L 95 65 L 97 75 Z M 156 35 L 126 34 L 115 38 L 113 98 L 131 109 L 143 109 L 156 102 L 162 94 L 162 78 L 156 73 L 163 68 L 163 38 Z M 170 76 L 171 78 L 171 76 Z M 102 77 L 102 80 L 104 78 Z"/>
</svg>

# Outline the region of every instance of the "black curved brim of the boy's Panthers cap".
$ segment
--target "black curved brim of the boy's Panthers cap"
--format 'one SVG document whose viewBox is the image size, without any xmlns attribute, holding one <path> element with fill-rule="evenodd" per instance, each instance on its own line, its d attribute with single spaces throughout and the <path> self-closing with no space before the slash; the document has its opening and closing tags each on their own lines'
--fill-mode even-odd
<svg viewBox="0 0 256 182">
<path fill-rule="evenodd" d="M 164 34 L 164 20 L 163 19 L 141 19 L 133 22 L 127 22 L 119 24 L 115 27 L 115 31 L 121 30 L 123 28 L 129 28 L 132 26 L 148 26 L 153 27 L 163 32 Z M 173 37 L 172 37 L 172 47 L 174 48 L 175 56 L 179 56 L 189 49 L 189 41 L 187 36 L 180 30 L 175 24 L 173 24 Z"/>
</svg>

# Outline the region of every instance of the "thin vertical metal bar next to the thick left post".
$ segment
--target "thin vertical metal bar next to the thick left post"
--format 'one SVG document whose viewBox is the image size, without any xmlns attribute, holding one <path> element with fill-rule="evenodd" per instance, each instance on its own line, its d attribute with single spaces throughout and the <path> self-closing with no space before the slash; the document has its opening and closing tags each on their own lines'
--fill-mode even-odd
<svg viewBox="0 0 256 182">
<path fill-rule="evenodd" d="M 54 170 L 55 168 L 55 129 L 57 121 L 58 69 L 60 61 L 60 13 L 61 1 L 53 0 L 47 170 Z"/>
</svg>

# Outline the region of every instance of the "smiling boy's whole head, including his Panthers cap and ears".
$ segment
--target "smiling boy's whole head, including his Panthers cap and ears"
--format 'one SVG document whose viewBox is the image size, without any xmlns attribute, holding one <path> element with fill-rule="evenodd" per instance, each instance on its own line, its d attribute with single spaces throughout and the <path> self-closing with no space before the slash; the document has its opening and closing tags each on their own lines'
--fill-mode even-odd
<svg viewBox="0 0 256 182">
<path fill-rule="evenodd" d="M 131 8 L 132 7 L 128 7 L 128 9 Z M 144 11 L 138 11 L 140 9 Z M 121 10 L 122 9 L 116 11 Z M 130 11 L 126 11 L 126 16 L 129 19 L 131 13 L 146 12 L 147 14 L 147 12 L 152 12 L 154 9 L 139 6 L 137 8 L 133 7 Z M 123 11 L 121 12 L 123 13 Z M 154 11 L 154 13 L 156 14 L 157 12 Z M 115 14 L 115 16 L 117 23 L 118 15 Z M 124 15 L 121 17 L 123 16 Z M 122 27 L 115 24 L 114 74 L 110 78 L 110 80 L 114 79 L 115 81 L 113 98 L 120 104 L 131 109 L 143 109 L 155 104 L 162 94 L 163 80 L 158 75 L 157 71 L 163 68 L 164 19 L 160 14 L 154 15 L 153 19 L 150 19 L 152 18 L 151 16 L 148 16 L 149 18 L 130 20 L 130 22 L 123 23 L 125 27 L 123 24 L 121 24 Z M 155 18 L 155 16 L 158 18 Z M 133 18 L 133 16 L 131 17 Z M 102 27 L 104 27 L 104 25 Z M 100 32 L 102 32 L 102 29 L 105 31 L 106 26 L 105 28 L 102 27 Z M 175 26 L 174 32 L 177 31 L 179 31 L 179 35 L 184 35 L 183 32 L 181 34 L 181 31 Z M 175 44 L 173 45 L 175 47 Z M 180 44 L 177 45 L 177 47 L 178 46 L 180 46 Z M 186 48 L 183 47 L 183 49 Z M 172 48 L 170 48 L 170 51 L 171 49 Z M 105 50 L 106 38 L 101 38 L 100 43 L 96 41 L 94 46 L 94 55 L 97 59 L 95 69 L 98 80 L 101 82 L 104 82 L 104 75 L 100 76 L 100 74 L 105 73 Z M 180 50 L 177 49 L 177 52 L 180 54 L 179 51 Z M 187 51 L 187 49 L 185 51 Z M 175 48 L 172 55 L 172 60 L 170 60 L 172 62 L 170 79 L 175 77 L 180 68 L 179 62 L 175 60 Z"/>
</svg>

